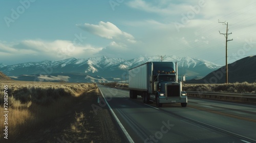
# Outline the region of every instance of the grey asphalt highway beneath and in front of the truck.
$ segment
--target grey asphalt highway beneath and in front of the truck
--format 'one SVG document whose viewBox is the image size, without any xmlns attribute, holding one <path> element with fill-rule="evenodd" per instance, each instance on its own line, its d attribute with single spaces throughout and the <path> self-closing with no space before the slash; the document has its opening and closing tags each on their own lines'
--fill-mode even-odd
<svg viewBox="0 0 256 143">
<path fill-rule="evenodd" d="M 143 104 L 129 90 L 98 84 L 130 142 L 256 142 L 256 106 L 188 97 L 180 104 Z M 101 106 L 106 106 L 100 100 Z"/>
</svg>

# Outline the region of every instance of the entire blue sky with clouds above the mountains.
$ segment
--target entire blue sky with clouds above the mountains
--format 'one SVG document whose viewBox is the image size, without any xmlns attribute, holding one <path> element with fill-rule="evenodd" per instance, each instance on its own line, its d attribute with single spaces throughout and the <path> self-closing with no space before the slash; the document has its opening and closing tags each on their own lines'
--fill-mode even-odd
<svg viewBox="0 0 256 143">
<path fill-rule="evenodd" d="M 225 65 L 256 55 L 256 2 L 0 0 L 0 63 L 172 56 Z"/>
</svg>

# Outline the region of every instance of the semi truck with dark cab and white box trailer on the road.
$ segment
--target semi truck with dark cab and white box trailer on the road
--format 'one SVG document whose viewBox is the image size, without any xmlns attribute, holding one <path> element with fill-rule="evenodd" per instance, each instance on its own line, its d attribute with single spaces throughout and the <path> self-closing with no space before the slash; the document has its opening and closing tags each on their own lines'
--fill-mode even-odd
<svg viewBox="0 0 256 143">
<path fill-rule="evenodd" d="M 142 97 L 145 104 L 181 103 L 187 106 L 187 94 L 178 82 L 177 62 L 146 62 L 129 69 L 130 98 Z"/>
</svg>

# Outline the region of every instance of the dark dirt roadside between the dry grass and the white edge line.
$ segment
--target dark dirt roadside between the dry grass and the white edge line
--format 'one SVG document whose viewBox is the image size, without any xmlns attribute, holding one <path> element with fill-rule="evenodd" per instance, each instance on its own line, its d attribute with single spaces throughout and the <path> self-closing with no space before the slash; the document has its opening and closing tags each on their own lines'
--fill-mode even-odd
<svg viewBox="0 0 256 143">
<path fill-rule="evenodd" d="M 98 88 L 82 93 L 64 115 L 38 125 L 10 142 L 127 142 L 108 106 L 97 103 Z M 97 107 L 97 110 L 93 109 Z M 28 123 L 29 126 L 29 123 Z"/>
</svg>

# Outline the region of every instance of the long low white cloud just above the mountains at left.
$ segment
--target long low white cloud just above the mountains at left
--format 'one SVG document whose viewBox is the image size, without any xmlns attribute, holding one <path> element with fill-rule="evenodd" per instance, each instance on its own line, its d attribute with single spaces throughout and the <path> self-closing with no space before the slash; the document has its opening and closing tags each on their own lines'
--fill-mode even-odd
<svg viewBox="0 0 256 143">
<path fill-rule="evenodd" d="M 102 47 L 95 47 L 90 44 L 77 45 L 67 40 L 23 40 L 12 45 L 0 42 L 0 61 L 5 64 L 12 64 L 11 61 L 62 60 L 70 57 L 88 58 L 96 55 L 102 49 Z"/>
</svg>

